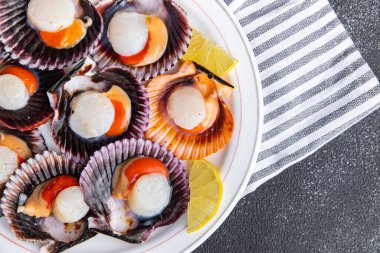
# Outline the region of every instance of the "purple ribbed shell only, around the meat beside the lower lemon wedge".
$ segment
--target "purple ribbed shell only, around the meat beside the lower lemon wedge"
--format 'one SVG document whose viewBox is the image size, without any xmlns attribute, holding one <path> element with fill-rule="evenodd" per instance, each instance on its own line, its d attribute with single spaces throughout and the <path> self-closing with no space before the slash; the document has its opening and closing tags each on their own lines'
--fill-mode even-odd
<svg viewBox="0 0 380 253">
<path fill-rule="evenodd" d="M 166 167 L 172 188 L 166 208 L 149 218 L 132 211 L 131 199 L 124 201 L 111 195 L 118 165 L 141 156 L 156 159 Z M 95 214 L 89 218 L 90 229 L 130 243 L 142 243 L 156 228 L 174 223 L 186 211 L 190 198 L 187 172 L 180 161 L 166 148 L 143 139 L 124 139 L 96 151 L 82 172 L 80 184 Z"/>
</svg>

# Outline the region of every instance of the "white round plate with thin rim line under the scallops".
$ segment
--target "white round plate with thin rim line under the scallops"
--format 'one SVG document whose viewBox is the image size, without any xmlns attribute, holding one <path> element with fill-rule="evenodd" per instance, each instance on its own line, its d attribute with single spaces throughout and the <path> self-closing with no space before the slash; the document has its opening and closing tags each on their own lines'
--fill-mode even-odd
<svg viewBox="0 0 380 253">
<path fill-rule="evenodd" d="M 96 237 L 69 249 L 71 253 L 184 252 L 204 242 L 227 218 L 240 199 L 257 158 L 262 126 L 262 96 L 257 65 L 244 32 L 222 0 L 176 0 L 189 15 L 193 27 L 216 41 L 239 59 L 229 81 L 236 89 L 230 102 L 235 132 L 228 147 L 208 158 L 220 168 L 224 194 L 214 219 L 201 230 L 187 234 L 185 215 L 175 224 L 157 229 L 141 245 L 111 237 Z M 4 218 L 0 219 L 1 252 L 38 252 L 39 247 L 14 238 Z"/>
</svg>

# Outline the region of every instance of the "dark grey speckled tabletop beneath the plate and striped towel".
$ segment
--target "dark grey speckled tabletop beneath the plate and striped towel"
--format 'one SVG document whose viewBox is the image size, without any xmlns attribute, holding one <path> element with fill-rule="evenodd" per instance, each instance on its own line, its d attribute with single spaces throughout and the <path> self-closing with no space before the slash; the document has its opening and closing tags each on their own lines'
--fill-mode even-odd
<svg viewBox="0 0 380 253">
<path fill-rule="evenodd" d="M 330 2 L 380 77 L 380 1 Z M 196 252 L 380 252 L 380 111 L 241 200 Z"/>
</svg>

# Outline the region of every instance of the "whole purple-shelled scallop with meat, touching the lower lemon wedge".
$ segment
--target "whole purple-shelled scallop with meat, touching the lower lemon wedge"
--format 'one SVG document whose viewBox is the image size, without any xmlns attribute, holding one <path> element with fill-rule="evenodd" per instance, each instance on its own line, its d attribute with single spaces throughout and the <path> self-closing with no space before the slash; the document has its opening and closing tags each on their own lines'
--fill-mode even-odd
<svg viewBox="0 0 380 253">
<path fill-rule="evenodd" d="M 176 222 L 190 198 L 181 162 L 166 148 L 143 139 L 124 139 L 96 151 L 80 185 L 94 214 L 90 229 L 130 243 L 142 243 L 156 228 Z M 115 188 L 126 193 L 118 194 Z"/>
</svg>

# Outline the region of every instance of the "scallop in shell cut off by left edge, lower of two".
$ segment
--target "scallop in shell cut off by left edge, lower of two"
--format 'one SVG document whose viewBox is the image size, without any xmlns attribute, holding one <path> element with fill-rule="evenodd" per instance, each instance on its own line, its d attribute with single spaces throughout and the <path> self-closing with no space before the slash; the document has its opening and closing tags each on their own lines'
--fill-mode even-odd
<svg viewBox="0 0 380 253">
<path fill-rule="evenodd" d="M 0 125 L 0 199 L 6 182 L 18 168 L 19 163 L 45 150 L 45 141 L 39 130 L 21 132 Z M 15 156 L 15 161 L 12 161 L 13 156 Z"/>
</svg>

